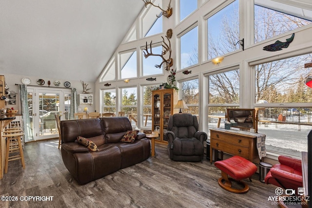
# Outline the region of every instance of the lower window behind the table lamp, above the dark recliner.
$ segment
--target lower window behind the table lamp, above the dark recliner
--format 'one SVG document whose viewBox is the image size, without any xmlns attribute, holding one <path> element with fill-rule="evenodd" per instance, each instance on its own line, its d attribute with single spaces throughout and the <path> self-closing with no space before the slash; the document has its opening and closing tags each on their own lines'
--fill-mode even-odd
<svg viewBox="0 0 312 208">
<path fill-rule="evenodd" d="M 192 79 L 181 82 L 182 100 L 189 107 L 189 109 L 182 109 L 182 112 L 198 115 L 199 90 L 198 79 Z M 175 103 L 176 104 L 176 103 Z"/>
</svg>

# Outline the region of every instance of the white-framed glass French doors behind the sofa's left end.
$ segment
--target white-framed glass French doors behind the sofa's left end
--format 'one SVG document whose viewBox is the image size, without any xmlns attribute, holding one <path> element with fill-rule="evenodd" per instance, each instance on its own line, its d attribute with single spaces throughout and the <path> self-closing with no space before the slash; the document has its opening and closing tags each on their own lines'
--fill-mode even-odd
<svg viewBox="0 0 312 208">
<path fill-rule="evenodd" d="M 28 87 L 27 94 L 34 140 L 59 137 L 55 114 L 70 119 L 71 90 Z"/>
</svg>

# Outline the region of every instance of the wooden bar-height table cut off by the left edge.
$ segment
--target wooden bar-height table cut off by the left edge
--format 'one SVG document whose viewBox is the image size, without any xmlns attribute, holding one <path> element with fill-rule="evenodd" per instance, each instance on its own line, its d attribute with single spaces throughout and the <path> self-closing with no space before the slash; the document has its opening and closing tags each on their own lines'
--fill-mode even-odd
<svg viewBox="0 0 312 208">
<path fill-rule="evenodd" d="M 16 117 L 12 115 L 0 114 L 0 179 L 3 178 L 5 161 L 5 139 L 2 138 L 2 132 L 15 118 Z"/>
</svg>

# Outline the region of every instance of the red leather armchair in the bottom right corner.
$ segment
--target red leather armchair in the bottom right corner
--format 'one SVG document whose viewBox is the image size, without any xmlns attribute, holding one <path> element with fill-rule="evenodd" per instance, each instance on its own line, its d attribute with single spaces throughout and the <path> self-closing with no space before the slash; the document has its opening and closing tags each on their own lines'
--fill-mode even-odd
<svg viewBox="0 0 312 208">
<path fill-rule="evenodd" d="M 278 157 L 280 164 L 275 164 L 266 175 L 266 184 L 273 184 L 284 189 L 302 187 L 301 160 L 288 156 Z"/>
</svg>

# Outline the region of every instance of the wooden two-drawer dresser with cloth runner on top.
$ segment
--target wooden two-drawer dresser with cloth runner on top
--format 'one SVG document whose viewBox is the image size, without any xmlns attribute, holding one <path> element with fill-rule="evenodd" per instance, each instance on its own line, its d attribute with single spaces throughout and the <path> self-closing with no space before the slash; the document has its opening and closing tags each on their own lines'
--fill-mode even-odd
<svg viewBox="0 0 312 208">
<path fill-rule="evenodd" d="M 213 161 L 215 150 L 239 155 L 253 162 L 259 158 L 257 151 L 257 134 L 237 130 L 211 129 L 210 130 L 210 163 Z"/>
</svg>

